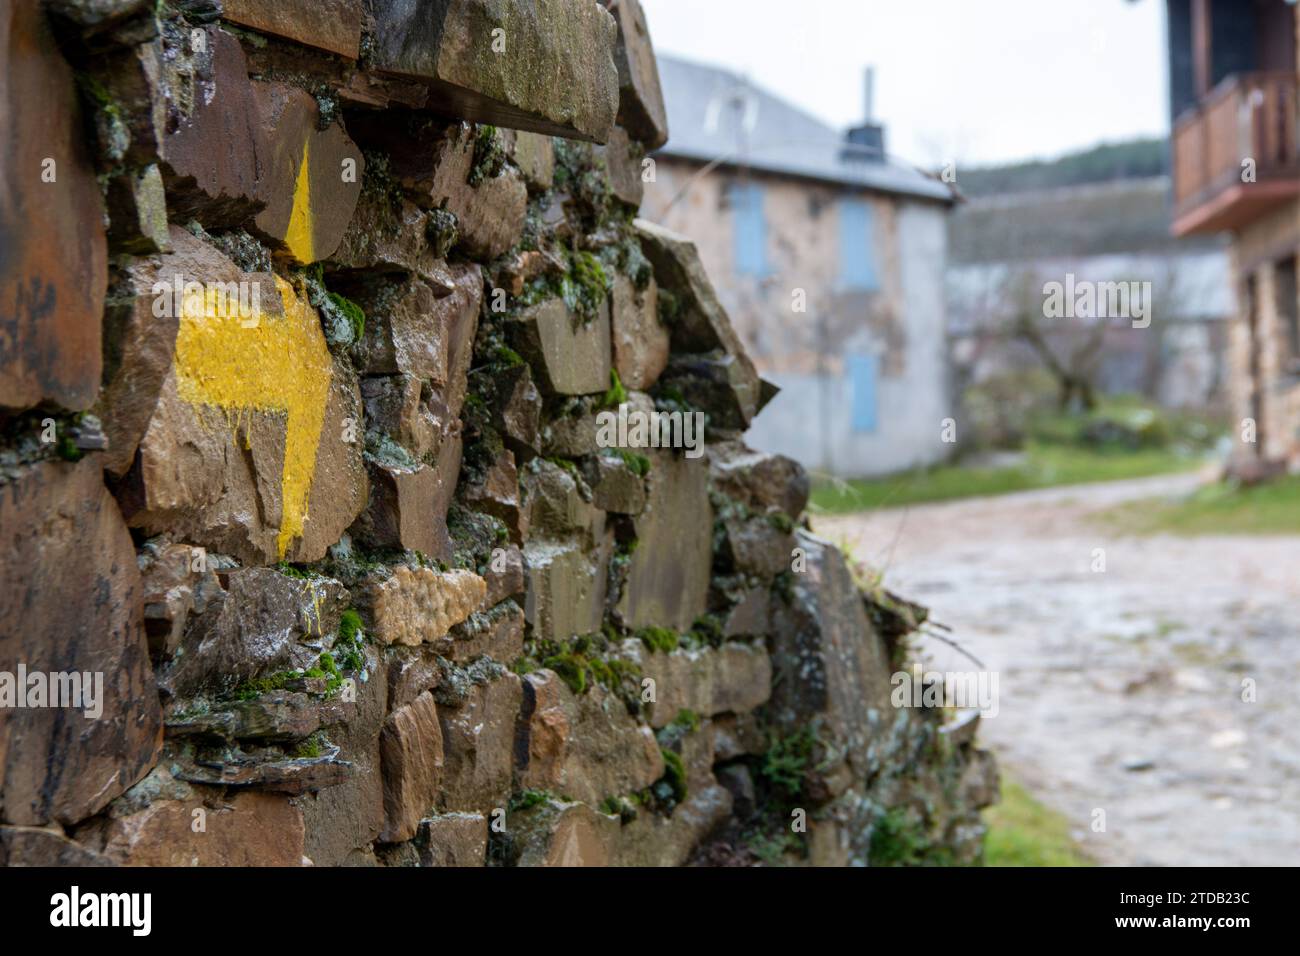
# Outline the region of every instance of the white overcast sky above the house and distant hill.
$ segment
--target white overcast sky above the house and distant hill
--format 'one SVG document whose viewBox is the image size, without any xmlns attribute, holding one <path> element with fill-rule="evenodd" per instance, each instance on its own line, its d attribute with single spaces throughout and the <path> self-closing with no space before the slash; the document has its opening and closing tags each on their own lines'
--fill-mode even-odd
<svg viewBox="0 0 1300 956">
<path fill-rule="evenodd" d="M 1164 0 L 641 0 L 655 48 L 725 66 L 836 126 L 862 70 L 890 153 L 1050 157 L 1169 131 Z"/>
</svg>

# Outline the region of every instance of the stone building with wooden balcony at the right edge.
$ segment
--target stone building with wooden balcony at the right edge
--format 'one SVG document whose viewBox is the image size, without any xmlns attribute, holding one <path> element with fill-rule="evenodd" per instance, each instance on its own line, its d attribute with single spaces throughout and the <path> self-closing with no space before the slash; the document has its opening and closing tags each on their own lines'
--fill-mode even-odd
<svg viewBox="0 0 1300 956">
<path fill-rule="evenodd" d="M 1234 468 L 1300 470 L 1296 7 L 1167 0 L 1173 233 L 1231 234 Z"/>
</svg>

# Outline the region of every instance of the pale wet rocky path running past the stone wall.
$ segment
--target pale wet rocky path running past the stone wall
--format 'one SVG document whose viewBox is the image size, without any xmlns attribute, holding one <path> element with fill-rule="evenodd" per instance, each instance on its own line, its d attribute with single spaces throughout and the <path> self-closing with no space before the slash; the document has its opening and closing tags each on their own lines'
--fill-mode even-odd
<svg viewBox="0 0 1300 956">
<path fill-rule="evenodd" d="M 888 587 L 998 672 L 983 740 L 1098 861 L 1300 864 L 1300 537 L 1134 537 L 1091 518 L 1199 480 L 815 525 L 887 567 Z M 922 646 L 941 670 L 974 669 L 941 643 Z M 1095 809 L 1105 832 L 1091 829 Z"/>
</svg>

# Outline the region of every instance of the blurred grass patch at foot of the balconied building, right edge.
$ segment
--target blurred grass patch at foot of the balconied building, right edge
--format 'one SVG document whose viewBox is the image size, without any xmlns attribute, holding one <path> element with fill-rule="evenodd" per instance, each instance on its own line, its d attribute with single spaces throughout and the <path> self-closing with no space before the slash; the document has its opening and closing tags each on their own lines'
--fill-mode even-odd
<svg viewBox="0 0 1300 956">
<path fill-rule="evenodd" d="M 1138 535 L 1300 535 L 1300 476 L 1240 488 L 1205 485 L 1182 501 L 1134 501 L 1098 520 Z"/>
</svg>

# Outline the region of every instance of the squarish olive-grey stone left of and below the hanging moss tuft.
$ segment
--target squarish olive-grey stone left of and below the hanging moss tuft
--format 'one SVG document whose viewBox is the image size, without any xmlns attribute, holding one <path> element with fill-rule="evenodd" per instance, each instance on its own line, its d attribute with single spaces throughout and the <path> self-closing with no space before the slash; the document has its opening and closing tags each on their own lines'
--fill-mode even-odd
<svg viewBox="0 0 1300 956">
<path fill-rule="evenodd" d="M 563 299 L 532 306 L 507 324 L 511 346 L 541 373 L 538 385 L 560 395 L 589 395 L 610 388 L 610 311 L 582 321 Z"/>
</svg>

